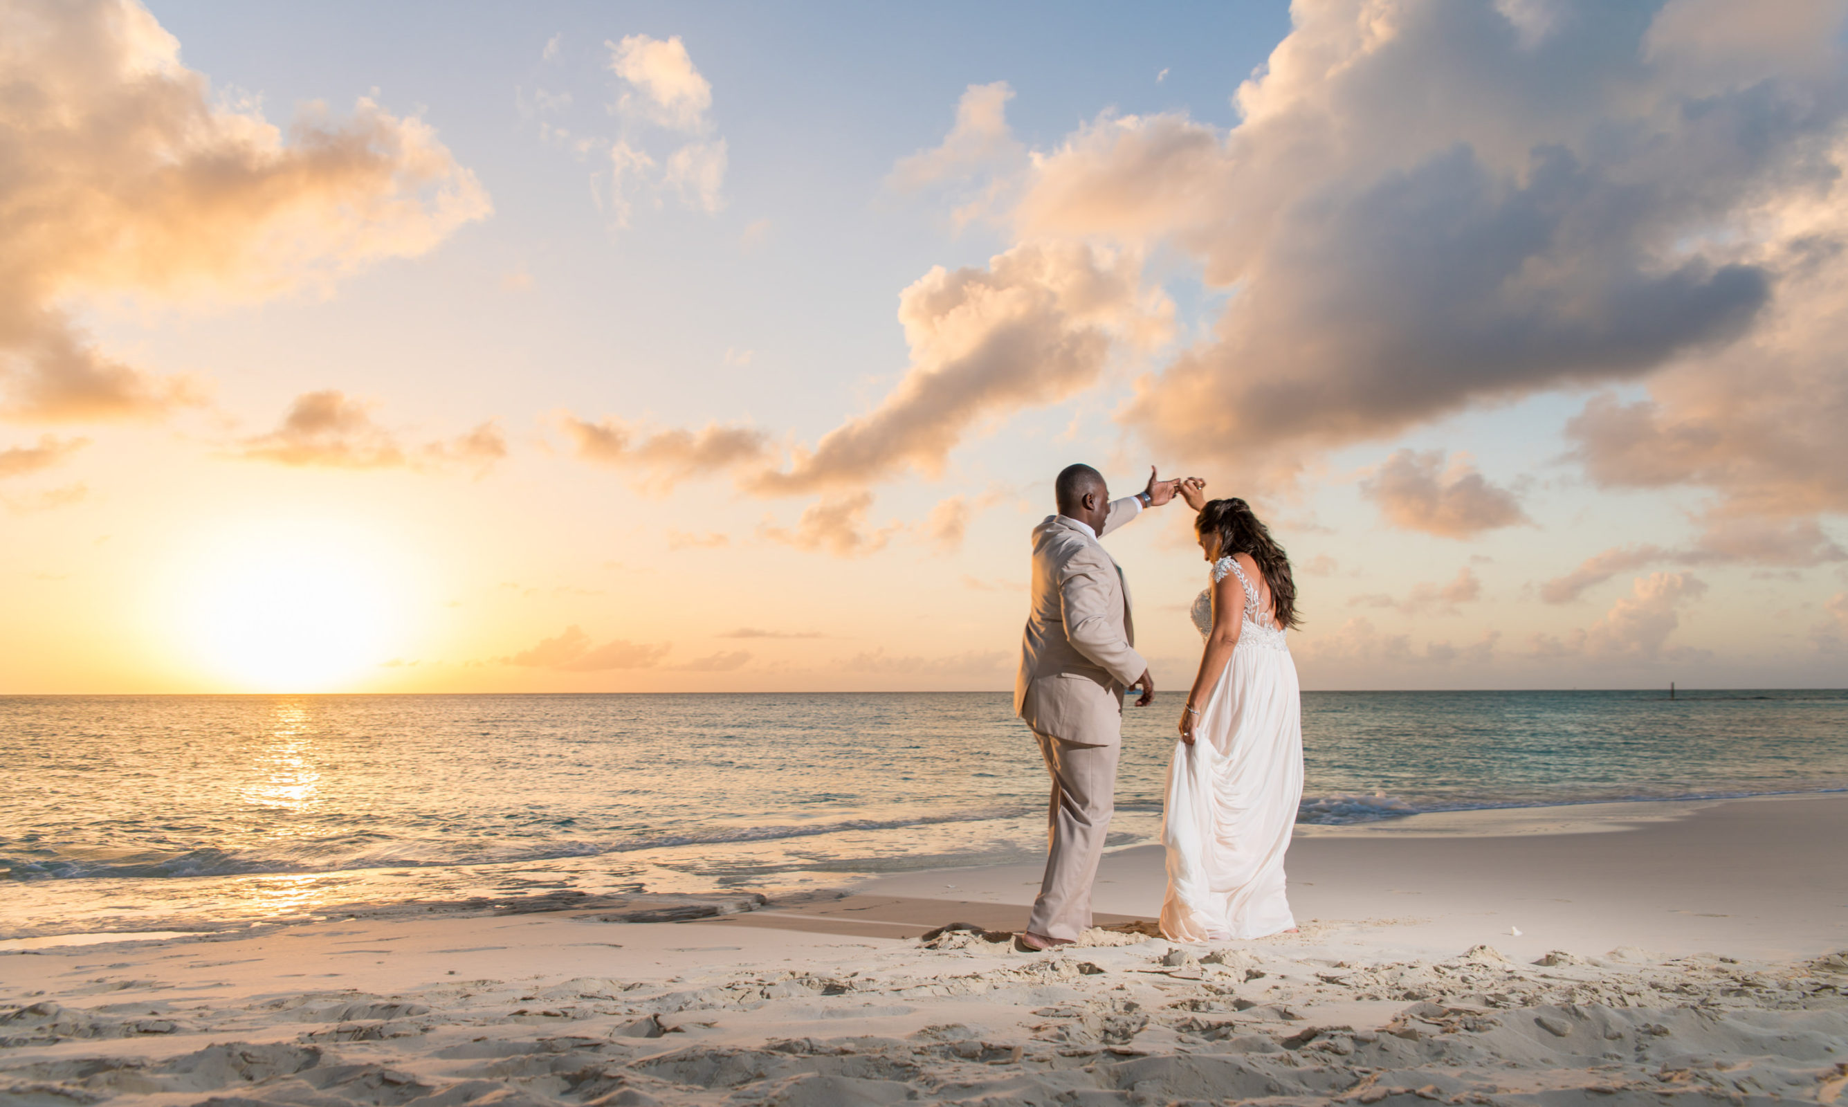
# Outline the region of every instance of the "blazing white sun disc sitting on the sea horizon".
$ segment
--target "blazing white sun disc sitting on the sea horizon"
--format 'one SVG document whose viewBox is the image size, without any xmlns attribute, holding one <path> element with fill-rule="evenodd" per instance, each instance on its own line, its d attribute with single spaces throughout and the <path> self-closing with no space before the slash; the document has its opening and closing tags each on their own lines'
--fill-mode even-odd
<svg viewBox="0 0 1848 1107">
<path fill-rule="evenodd" d="M 176 645 L 238 691 L 331 691 L 392 656 L 403 588 L 375 541 L 325 523 L 242 523 L 188 551 Z"/>
</svg>

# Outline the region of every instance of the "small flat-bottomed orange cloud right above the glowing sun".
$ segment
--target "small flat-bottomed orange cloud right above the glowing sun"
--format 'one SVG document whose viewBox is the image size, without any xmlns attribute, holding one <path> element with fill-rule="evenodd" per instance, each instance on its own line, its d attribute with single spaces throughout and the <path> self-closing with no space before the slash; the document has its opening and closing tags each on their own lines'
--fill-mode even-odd
<svg viewBox="0 0 1848 1107">
<path fill-rule="evenodd" d="M 275 431 L 246 438 L 238 444 L 237 455 L 298 468 L 394 469 L 464 464 L 479 471 L 506 456 L 506 438 L 492 421 L 447 442 L 405 447 L 392 431 L 371 418 L 373 408 L 373 403 L 334 388 L 303 392 Z"/>
</svg>

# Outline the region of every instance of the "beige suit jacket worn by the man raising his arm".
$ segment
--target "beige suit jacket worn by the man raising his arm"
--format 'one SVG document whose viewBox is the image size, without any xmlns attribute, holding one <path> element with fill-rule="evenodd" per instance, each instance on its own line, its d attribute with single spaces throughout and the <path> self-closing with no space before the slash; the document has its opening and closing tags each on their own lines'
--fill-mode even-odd
<svg viewBox="0 0 1848 1107">
<path fill-rule="evenodd" d="M 1112 501 L 1103 534 L 1137 514 L 1135 497 Z M 1039 734 L 1120 743 L 1124 689 L 1148 671 L 1135 647 L 1124 571 L 1085 527 L 1048 516 L 1033 529 L 1031 597 L 1015 713 Z"/>
</svg>

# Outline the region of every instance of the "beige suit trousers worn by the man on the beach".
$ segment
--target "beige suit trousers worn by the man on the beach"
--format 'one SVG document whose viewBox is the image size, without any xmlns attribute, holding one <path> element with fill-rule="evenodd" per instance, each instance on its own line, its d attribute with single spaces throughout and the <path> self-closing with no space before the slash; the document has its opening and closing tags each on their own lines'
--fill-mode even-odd
<svg viewBox="0 0 1848 1107">
<path fill-rule="evenodd" d="M 1079 745 L 1035 732 L 1052 806 L 1046 811 L 1046 878 L 1033 900 L 1027 930 L 1042 937 L 1077 939 L 1090 926 L 1090 885 L 1103 858 L 1103 837 L 1116 811 L 1120 745 Z"/>
</svg>

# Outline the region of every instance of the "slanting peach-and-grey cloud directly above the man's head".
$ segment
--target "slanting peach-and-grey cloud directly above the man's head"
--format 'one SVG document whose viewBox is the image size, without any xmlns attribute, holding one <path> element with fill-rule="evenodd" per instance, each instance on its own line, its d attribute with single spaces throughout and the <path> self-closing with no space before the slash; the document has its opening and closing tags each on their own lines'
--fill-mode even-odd
<svg viewBox="0 0 1848 1107">
<path fill-rule="evenodd" d="M 1116 338 L 1166 338 L 1173 305 L 1140 286 L 1135 255 L 1081 242 L 1022 244 L 987 268 L 933 268 L 904 290 L 911 368 L 865 416 L 798 449 L 750 488 L 808 493 L 904 471 L 939 475 L 978 423 L 1090 388 Z"/>
</svg>

